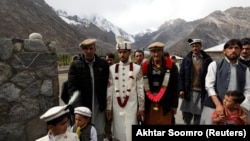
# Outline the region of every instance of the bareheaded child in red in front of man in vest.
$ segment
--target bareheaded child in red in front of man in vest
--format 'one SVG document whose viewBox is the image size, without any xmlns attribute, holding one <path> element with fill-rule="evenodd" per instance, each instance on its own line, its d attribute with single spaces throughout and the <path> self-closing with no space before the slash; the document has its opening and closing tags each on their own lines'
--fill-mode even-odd
<svg viewBox="0 0 250 141">
<path fill-rule="evenodd" d="M 245 96 L 240 91 L 228 91 L 223 100 L 224 115 L 212 114 L 213 123 L 216 125 L 245 125 L 248 124 L 246 110 L 240 107 Z"/>
</svg>

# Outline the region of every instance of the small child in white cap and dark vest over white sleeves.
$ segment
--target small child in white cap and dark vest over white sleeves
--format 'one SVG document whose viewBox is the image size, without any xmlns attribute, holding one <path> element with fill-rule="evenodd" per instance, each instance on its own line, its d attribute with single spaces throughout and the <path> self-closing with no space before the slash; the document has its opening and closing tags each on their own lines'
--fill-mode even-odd
<svg viewBox="0 0 250 141">
<path fill-rule="evenodd" d="M 80 141 L 97 141 L 96 128 L 90 123 L 91 111 L 87 107 L 76 107 L 75 125 L 71 131 L 76 133 Z"/>
</svg>

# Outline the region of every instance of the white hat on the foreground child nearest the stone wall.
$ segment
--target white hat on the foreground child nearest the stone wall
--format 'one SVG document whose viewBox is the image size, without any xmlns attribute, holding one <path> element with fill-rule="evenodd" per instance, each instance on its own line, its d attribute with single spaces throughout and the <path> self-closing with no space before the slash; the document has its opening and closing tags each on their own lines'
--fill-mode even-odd
<svg viewBox="0 0 250 141">
<path fill-rule="evenodd" d="M 41 117 L 40 119 L 48 122 L 48 121 L 51 121 L 53 119 L 56 119 L 66 113 L 69 112 L 69 110 L 66 108 L 67 105 L 64 105 L 64 106 L 55 106 L 55 107 L 52 107 L 50 108 L 47 112 L 45 112 Z"/>
</svg>

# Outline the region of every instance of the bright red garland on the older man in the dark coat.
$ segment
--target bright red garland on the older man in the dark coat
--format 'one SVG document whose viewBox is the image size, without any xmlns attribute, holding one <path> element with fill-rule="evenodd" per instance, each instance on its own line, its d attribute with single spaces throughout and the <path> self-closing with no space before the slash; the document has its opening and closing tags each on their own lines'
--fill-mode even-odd
<svg viewBox="0 0 250 141">
<path fill-rule="evenodd" d="M 170 77 L 170 69 L 172 68 L 172 61 L 171 59 L 168 57 L 165 58 L 166 60 L 166 73 L 162 82 L 162 86 L 158 92 L 158 94 L 154 95 L 149 88 L 149 84 L 148 84 L 148 78 L 147 78 L 147 69 L 148 69 L 148 62 L 145 62 L 142 66 L 142 72 L 143 72 L 143 81 L 144 81 L 144 89 L 146 91 L 146 95 L 147 97 L 153 101 L 153 102 L 159 102 L 161 100 L 161 98 L 163 97 L 167 85 L 168 85 L 168 81 L 169 81 L 169 77 Z"/>
</svg>

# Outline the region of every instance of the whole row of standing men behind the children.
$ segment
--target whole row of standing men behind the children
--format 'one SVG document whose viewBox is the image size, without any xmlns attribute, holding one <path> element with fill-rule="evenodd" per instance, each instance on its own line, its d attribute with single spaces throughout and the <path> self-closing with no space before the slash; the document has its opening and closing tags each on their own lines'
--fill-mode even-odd
<svg viewBox="0 0 250 141">
<path fill-rule="evenodd" d="M 201 39 L 189 39 L 191 51 L 180 70 L 164 56 L 164 43 L 148 45 L 148 60 L 143 52 L 134 52 L 140 60 L 134 63 L 132 43 L 121 36 L 116 42 L 119 62 L 114 63 L 110 54 L 107 61 L 97 56 L 96 39 L 84 40 L 79 45 L 83 54 L 68 72 L 69 94 L 80 92 L 74 106 L 91 109 L 99 141 L 104 139 L 107 121 L 112 121 L 112 135 L 120 141 L 132 139 L 132 125 L 171 125 L 179 97 L 187 125 L 212 124 L 211 114 L 214 110 L 223 114 L 222 98 L 229 90 L 244 92 L 242 107 L 250 109 L 249 38 L 226 42 L 220 67 L 202 50 Z"/>
</svg>

